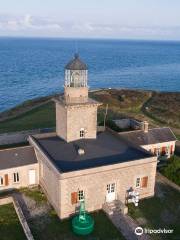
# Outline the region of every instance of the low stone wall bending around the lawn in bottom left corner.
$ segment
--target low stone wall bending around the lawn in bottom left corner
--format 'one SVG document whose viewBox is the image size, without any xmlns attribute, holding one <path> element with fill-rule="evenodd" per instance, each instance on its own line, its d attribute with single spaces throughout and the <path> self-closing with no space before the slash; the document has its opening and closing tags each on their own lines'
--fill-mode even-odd
<svg viewBox="0 0 180 240">
<path fill-rule="evenodd" d="M 15 209 L 17 215 L 18 215 L 19 221 L 20 221 L 20 223 L 22 225 L 22 228 L 24 230 L 24 233 L 25 233 L 27 239 L 28 240 L 34 240 L 34 237 L 33 237 L 32 233 L 31 233 L 31 230 L 30 230 L 30 228 L 29 228 L 29 226 L 27 224 L 26 218 L 25 218 L 25 216 L 24 216 L 24 214 L 22 212 L 22 209 L 21 209 L 18 201 L 15 198 L 11 197 L 11 196 L 4 197 L 4 198 L 0 199 L 0 205 L 5 205 L 5 204 L 9 204 L 9 203 L 13 203 L 14 209 Z"/>
</svg>

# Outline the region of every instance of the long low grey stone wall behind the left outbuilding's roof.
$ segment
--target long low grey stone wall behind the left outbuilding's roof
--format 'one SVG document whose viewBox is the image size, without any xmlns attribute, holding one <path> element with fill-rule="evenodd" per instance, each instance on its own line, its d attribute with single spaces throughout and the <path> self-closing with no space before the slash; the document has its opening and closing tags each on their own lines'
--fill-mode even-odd
<svg viewBox="0 0 180 240">
<path fill-rule="evenodd" d="M 54 131 L 54 128 L 34 129 L 28 131 L 11 132 L 0 134 L 0 145 L 16 144 L 26 142 L 29 135 L 39 133 L 48 133 Z"/>
</svg>

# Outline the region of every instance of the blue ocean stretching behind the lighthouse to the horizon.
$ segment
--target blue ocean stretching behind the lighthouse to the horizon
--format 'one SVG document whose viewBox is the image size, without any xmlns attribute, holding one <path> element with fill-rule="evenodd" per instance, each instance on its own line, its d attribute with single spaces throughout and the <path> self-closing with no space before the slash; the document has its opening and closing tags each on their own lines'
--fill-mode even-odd
<svg viewBox="0 0 180 240">
<path fill-rule="evenodd" d="M 0 111 L 62 91 L 77 46 L 91 89 L 180 92 L 180 42 L 0 38 Z"/>
</svg>

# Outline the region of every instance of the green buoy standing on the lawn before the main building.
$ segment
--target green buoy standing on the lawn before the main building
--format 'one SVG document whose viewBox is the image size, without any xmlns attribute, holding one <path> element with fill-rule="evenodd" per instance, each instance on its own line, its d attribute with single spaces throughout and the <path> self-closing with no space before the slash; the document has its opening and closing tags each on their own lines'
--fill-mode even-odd
<svg viewBox="0 0 180 240">
<path fill-rule="evenodd" d="M 88 235 L 94 230 L 94 219 L 86 212 L 84 200 L 80 202 L 80 211 L 72 219 L 73 232 L 78 235 Z"/>
</svg>

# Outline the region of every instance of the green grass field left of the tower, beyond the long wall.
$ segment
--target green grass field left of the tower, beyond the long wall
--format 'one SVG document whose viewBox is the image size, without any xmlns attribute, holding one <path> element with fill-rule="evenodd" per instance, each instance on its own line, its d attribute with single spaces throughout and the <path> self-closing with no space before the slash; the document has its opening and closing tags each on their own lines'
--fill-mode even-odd
<svg viewBox="0 0 180 240">
<path fill-rule="evenodd" d="M 0 122 L 0 133 L 54 126 L 55 107 L 53 102 L 49 102 L 16 118 Z"/>
</svg>

